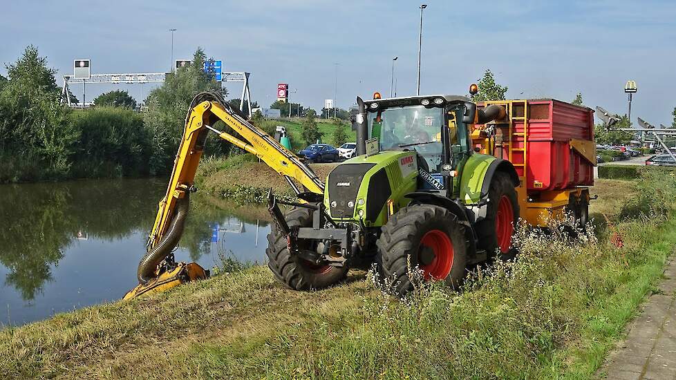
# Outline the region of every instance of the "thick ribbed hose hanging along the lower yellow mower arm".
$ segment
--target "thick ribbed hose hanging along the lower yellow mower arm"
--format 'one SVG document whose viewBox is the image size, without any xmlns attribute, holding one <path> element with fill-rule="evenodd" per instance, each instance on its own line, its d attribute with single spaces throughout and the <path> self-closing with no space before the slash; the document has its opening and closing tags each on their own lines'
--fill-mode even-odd
<svg viewBox="0 0 676 380">
<path fill-rule="evenodd" d="M 190 193 L 185 192 L 185 196 L 176 200 L 173 218 L 169 223 L 169 228 L 160 242 L 147 251 L 145 256 L 138 263 L 138 283 L 146 285 L 155 278 L 155 269 L 158 265 L 171 254 L 173 247 L 176 247 L 178 240 L 183 234 L 185 219 L 188 216 L 190 208 Z"/>
</svg>

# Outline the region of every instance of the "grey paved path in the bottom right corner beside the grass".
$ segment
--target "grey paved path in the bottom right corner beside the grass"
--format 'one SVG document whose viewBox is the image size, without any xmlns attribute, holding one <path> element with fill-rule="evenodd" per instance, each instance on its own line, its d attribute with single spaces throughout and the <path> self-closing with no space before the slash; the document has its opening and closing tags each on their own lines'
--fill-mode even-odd
<svg viewBox="0 0 676 380">
<path fill-rule="evenodd" d="M 664 276 L 661 292 L 642 305 L 627 340 L 608 358 L 608 379 L 676 379 L 676 258 Z"/>
</svg>

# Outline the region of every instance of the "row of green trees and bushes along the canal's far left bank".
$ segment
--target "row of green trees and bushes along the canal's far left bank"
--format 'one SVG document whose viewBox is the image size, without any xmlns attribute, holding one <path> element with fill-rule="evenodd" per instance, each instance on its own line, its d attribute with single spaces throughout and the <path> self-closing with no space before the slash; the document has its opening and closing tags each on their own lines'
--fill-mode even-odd
<svg viewBox="0 0 676 380">
<path fill-rule="evenodd" d="M 147 113 L 133 111 L 136 102 L 126 91 L 74 110 L 63 105 L 56 70 L 28 46 L 6 66 L 7 77 L 0 76 L 0 183 L 168 173 L 192 97 L 226 92 L 204 72 L 205 60 L 198 48 L 191 65 L 169 73 L 148 95 Z M 207 152 L 232 149 L 215 140 L 207 140 Z"/>
</svg>

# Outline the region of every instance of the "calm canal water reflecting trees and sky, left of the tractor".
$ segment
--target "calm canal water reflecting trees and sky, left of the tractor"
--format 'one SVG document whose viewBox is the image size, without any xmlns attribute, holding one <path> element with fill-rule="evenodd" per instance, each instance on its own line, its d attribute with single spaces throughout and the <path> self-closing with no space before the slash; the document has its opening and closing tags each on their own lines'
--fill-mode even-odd
<svg viewBox="0 0 676 380">
<path fill-rule="evenodd" d="M 1 185 L 0 328 L 115 301 L 136 266 L 166 180 Z M 205 269 L 223 258 L 265 262 L 265 211 L 197 193 L 177 261 Z"/>
</svg>

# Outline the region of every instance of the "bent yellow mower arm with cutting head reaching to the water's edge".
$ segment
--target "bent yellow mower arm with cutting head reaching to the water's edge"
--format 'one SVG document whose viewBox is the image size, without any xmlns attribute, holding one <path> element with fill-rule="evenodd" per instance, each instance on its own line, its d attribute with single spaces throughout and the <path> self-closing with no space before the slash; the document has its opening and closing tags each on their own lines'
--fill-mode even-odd
<svg viewBox="0 0 676 380">
<path fill-rule="evenodd" d="M 212 126 L 218 120 L 225 122 L 245 141 L 214 129 Z M 173 263 L 171 251 L 178 244 L 182 234 L 188 211 L 189 193 L 195 190 L 195 173 L 209 131 L 256 155 L 274 171 L 283 175 L 296 193 L 300 193 L 301 190 L 291 178 L 312 193 L 323 193 L 323 182 L 294 153 L 248 122 L 238 111 L 230 108 L 219 94 L 200 93 L 193 100 L 185 119 L 185 129 L 174 160 L 167 193 L 160 200 L 155 225 L 148 238 L 147 253 L 138 266 L 140 285 L 127 293 L 125 299 L 207 276 L 204 269 L 195 263 L 187 265 Z M 164 267 L 160 265 L 162 263 Z"/>
</svg>

